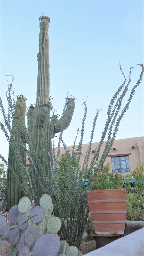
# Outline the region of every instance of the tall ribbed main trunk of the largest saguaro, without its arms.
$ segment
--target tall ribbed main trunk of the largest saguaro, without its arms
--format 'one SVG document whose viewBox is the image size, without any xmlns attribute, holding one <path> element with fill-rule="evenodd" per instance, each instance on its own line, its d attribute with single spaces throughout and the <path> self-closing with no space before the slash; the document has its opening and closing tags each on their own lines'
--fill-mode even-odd
<svg viewBox="0 0 144 256">
<path fill-rule="evenodd" d="M 38 76 L 37 76 L 37 94 L 36 94 L 36 104 L 34 108 L 34 121 L 33 129 L 31 134 L 31 142 L 33 148 L 42 161 L 42 150 L 43 147 L 49 151 L 51 155 L 52 145 L 51 145 L 51 123 L 50 123 L 50 108 L 51 104 L 49 101 L 49 88 L 50 88 L 50 75 L 49 75 L 49 38 L 48 38 L 48 27 L 50 19 L 44 16 L 40 20 L 40 34 L 39 34 L 39 53 L 38 57 Z M 43 126 L 47 129 L 47 141 L 43 145 L 42 135 Z M 38 168 L 39 169 L 39 168 Z M 39 175 L 40 171 L 39 171 Z M 42 189 L 36 180 L 37 189 L 39 195 L 42 195 Z"/>
</svg>

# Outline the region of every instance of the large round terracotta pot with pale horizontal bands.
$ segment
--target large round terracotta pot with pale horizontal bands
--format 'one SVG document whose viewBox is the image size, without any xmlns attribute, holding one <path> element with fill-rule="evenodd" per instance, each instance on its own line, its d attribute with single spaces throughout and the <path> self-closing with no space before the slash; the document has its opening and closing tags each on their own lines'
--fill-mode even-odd
<svg viewBox="0 0 144 256">
<path fill-rule="evenodd" d="M 124 234 L 126 223 L 125 190 L 89 191 L 87 198 L 96 235 Z"/>
</svg>

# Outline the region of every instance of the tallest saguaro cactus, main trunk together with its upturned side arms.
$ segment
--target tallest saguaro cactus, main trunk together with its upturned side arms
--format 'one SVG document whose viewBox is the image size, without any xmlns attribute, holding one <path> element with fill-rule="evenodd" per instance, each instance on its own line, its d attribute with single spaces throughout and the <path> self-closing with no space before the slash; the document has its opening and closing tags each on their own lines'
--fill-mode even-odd
<svg viewBox="0 0 144 256">
<path fill-rule="evenodd" d="M 50 102 L 49 90 L 50 90 L 50 75 L 49 75 L 49 37 L 48 27 L 50 18 L 47 16 L 39 17 L 40 20 L 40 34 L 39 34 L 39 53 L 38 58 L 38 77 L 37 77 L 37 94 L 35 107 L 30 106 L 29 115 L 29 127 L 32 127 L 31 131 L 31 143 L 38 155 L 42 160 L 42 149 L 45 147 L 49 154 L 52 154 L 51 139 L 55 133 L 59 133 L 61 130 L 65 130 L 71 122 L 74 112 L 74 100 L 75 98 L 67 98 L 67 107 L 63 112 L 62 117 L 58 120 L 57 115 L 53 115 L 50 119 L 50 110 L 53 108 Z M 32 111 L 33 109 L 33 111 Z M 45 127 L 45 128 L 44 128 Z M 45 130 L 46 140 L 43 142 L 43 129 Z M 52 161 L 51 161 L 52 163 Z M 49 167 L 50 168 L 50 167 Z M 39 176 L 41 173 L 39 171 Z M 43 182 L 43 179 L 41 179 Z M 39 183 L 36 182 L 39 195 L 42 195 L 42 190 L 39 187 Z"/>
</svg>

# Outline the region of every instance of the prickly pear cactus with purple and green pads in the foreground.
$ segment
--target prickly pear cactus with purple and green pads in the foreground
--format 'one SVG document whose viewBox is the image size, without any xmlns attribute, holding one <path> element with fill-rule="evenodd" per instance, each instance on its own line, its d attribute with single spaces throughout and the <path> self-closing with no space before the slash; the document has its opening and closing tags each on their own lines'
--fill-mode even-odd
<svg viewBox="0 0 144 256">
<path fill-rule="evenodd" d="M 7 223 L 0 215 L 0 256 L 81 256 L 76 247 L 60 241 L 61 220 L 52 212 L 49 195 L 42 196 L 40 206 L 24 196 L 9 211 Z"/>
</svg>

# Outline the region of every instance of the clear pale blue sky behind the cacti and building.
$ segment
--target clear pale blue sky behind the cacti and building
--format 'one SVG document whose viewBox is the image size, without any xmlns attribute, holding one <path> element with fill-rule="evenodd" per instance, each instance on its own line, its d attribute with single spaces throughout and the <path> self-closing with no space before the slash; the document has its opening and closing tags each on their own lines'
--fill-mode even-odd
<svg viewBox="0 0 144 256">
<path fill-rule="evenodd" d="M 72 122 L 63 133 L 73 144 L 81 127 L 83 99 L 87 97 L 84 143 L 88 143 L 96 110 L 102 108 L 93 142 L 99 141 L 106 111 L 123 77 L 143 59 L 143 1 L 1 1 L 1 95 L 5 105 L 6 74 L 13 74 L 15 95 L 35 103 L 39 16 L 50 16 L 50 95 L 57 114 L 62 113 L 67 92 L 76 98 Z M 131 91 L 141 69 L 132 73 Z M 127 95 L 128 97 L 128 95 Z M 126 102 L 126 99 L 125 99 Z M 5 105 L 6 106 L 6 105 Z M 143 136 L 143 83 L 121 121 L 116 139 Z M 77 141 L 78 143 L 78 141 Z M 56 140 L 57 145 L 57 140 Z M 1 154 L 8 144 L 1 135 Z"/>
</svg>

